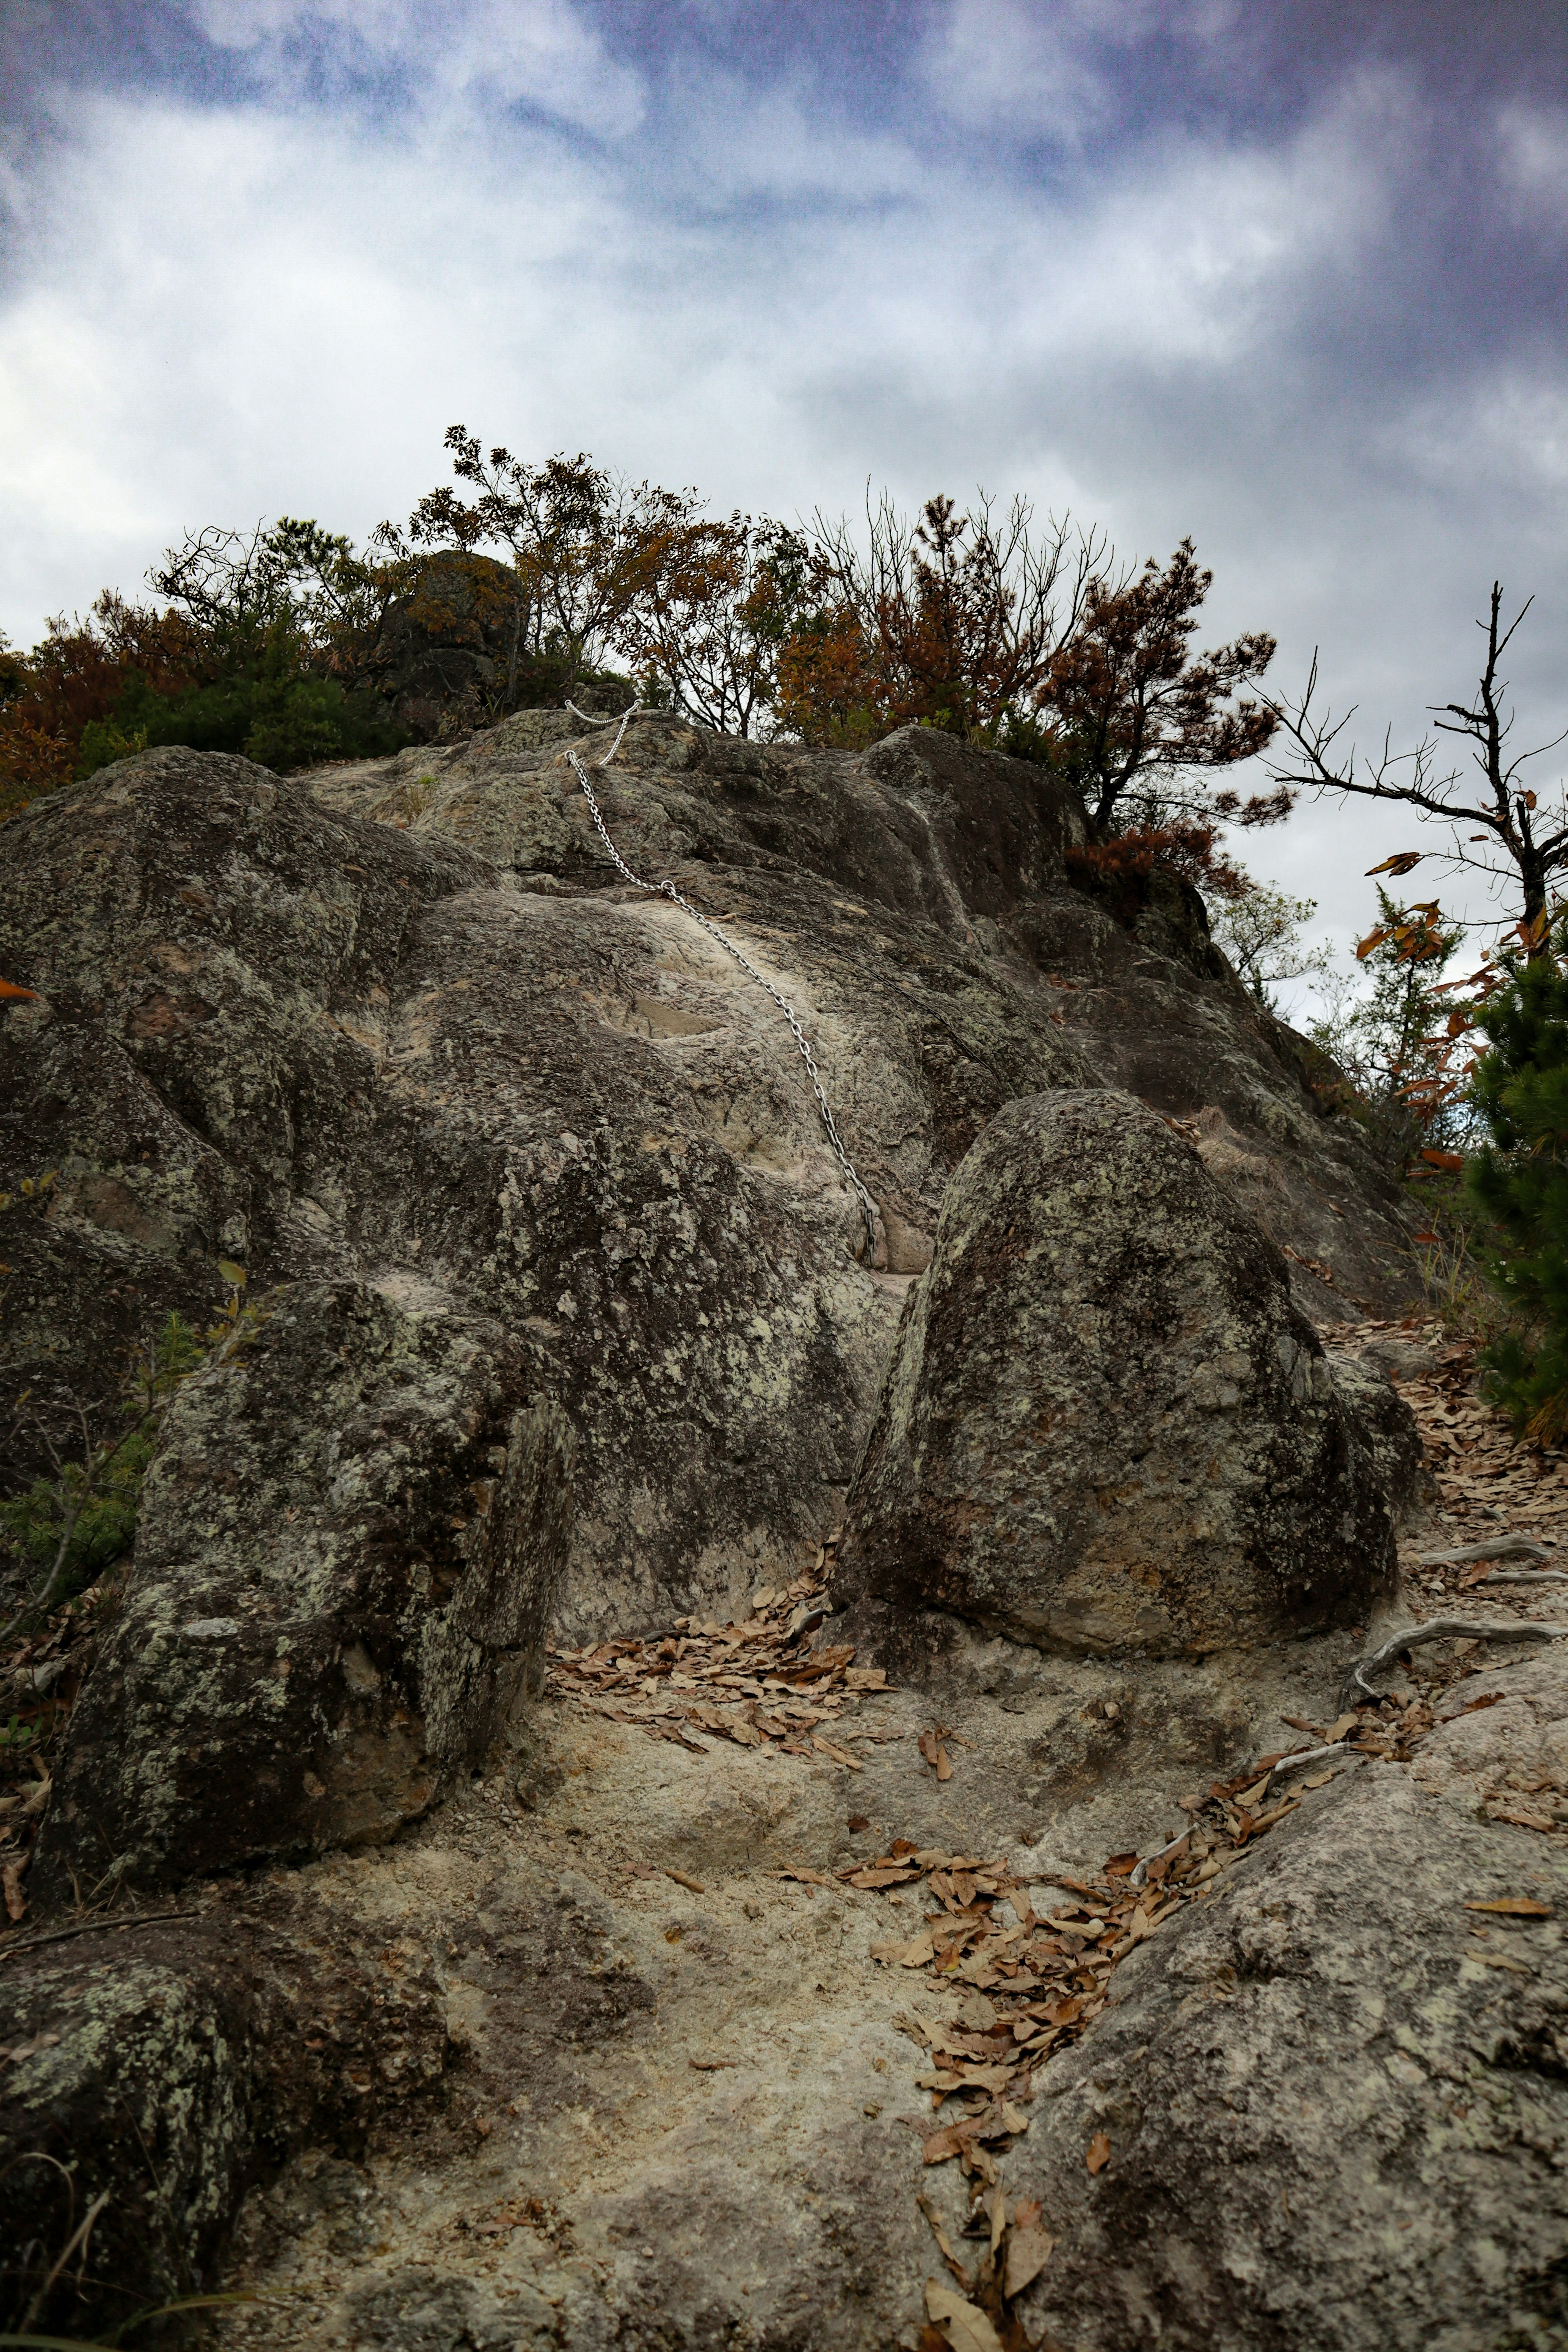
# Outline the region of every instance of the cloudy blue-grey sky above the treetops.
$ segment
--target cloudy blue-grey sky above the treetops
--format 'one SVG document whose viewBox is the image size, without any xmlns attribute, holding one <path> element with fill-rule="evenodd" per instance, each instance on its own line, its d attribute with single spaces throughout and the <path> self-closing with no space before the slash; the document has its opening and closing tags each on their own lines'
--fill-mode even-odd
<svg viewBox="0 0 1568 2352">
<path fill-rule="evenodd" d="M 1568 722 L 1561 0 L 7 0 L 0 628 L 465 421 L 785 517 L 1192 532 L 1356 731 Z M 1542 783 L 1561 776 L 1544 762 Z M 1410 835 L 1410 844 L 1413 844 Z M 1378 809 L 1255 870 L 1366 929 Z"/>
</svg>

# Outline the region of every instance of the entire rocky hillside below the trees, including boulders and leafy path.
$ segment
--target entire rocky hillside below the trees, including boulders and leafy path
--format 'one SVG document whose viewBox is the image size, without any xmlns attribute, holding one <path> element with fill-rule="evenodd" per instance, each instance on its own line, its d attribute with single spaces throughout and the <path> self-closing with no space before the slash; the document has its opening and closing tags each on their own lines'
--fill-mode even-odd
<svg viewBox="0 0 1568 2352">
<path fill-rule="evenodd" d="M 1387 2352 L 1441 2277 L 1453 2352 L 1568 2340 L 1556 1653 L 1342 1703 L 1434 1494 L 1319 1334 L 1408 1296 L 1359 1127 L 1041 771 L 644 715 L 609 833 L 795 1007 L 867 1244 L 569 743 L 0 830 L 28 1468 L 207 1334 L 12 1665 L 7 2317 Z"/>
</svg>

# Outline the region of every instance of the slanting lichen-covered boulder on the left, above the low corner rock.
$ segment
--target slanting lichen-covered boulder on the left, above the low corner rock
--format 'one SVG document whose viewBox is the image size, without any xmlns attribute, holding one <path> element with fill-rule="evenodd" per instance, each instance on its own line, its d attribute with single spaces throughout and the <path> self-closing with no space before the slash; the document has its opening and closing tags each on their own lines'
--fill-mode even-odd
<svg viewBox="0 0 1568 2352">
<path fill-rule="evenodd" d="M 40 1900 L 393 1835 L 543 1665 L 571 1430 L 482 1317 L 273 1291 L 169 1406 Z"/>
</svg>

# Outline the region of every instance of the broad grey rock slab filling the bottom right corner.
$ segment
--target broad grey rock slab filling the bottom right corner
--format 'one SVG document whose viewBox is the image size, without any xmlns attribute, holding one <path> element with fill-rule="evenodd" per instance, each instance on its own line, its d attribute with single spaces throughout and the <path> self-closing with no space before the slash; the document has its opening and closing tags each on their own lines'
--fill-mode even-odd
<svg viewBox="0 0 1568 2352">
<path fill-rule="evenodd" d="M 1500 2352 L 1568 2340 L 1568 1853 L 1479 1788 L 1568 1778 L 1568 1677 L 1486 1677 L 1410 1771 L 1319 1792 L 1124 1962 L 1013 2166 L 1074 2352 Z M 1465 1910 L 1544 1900 L 1547 1919 Z M 1112 2145 L 1093 2178 L 1095 2131 Z"/>
</svg>

